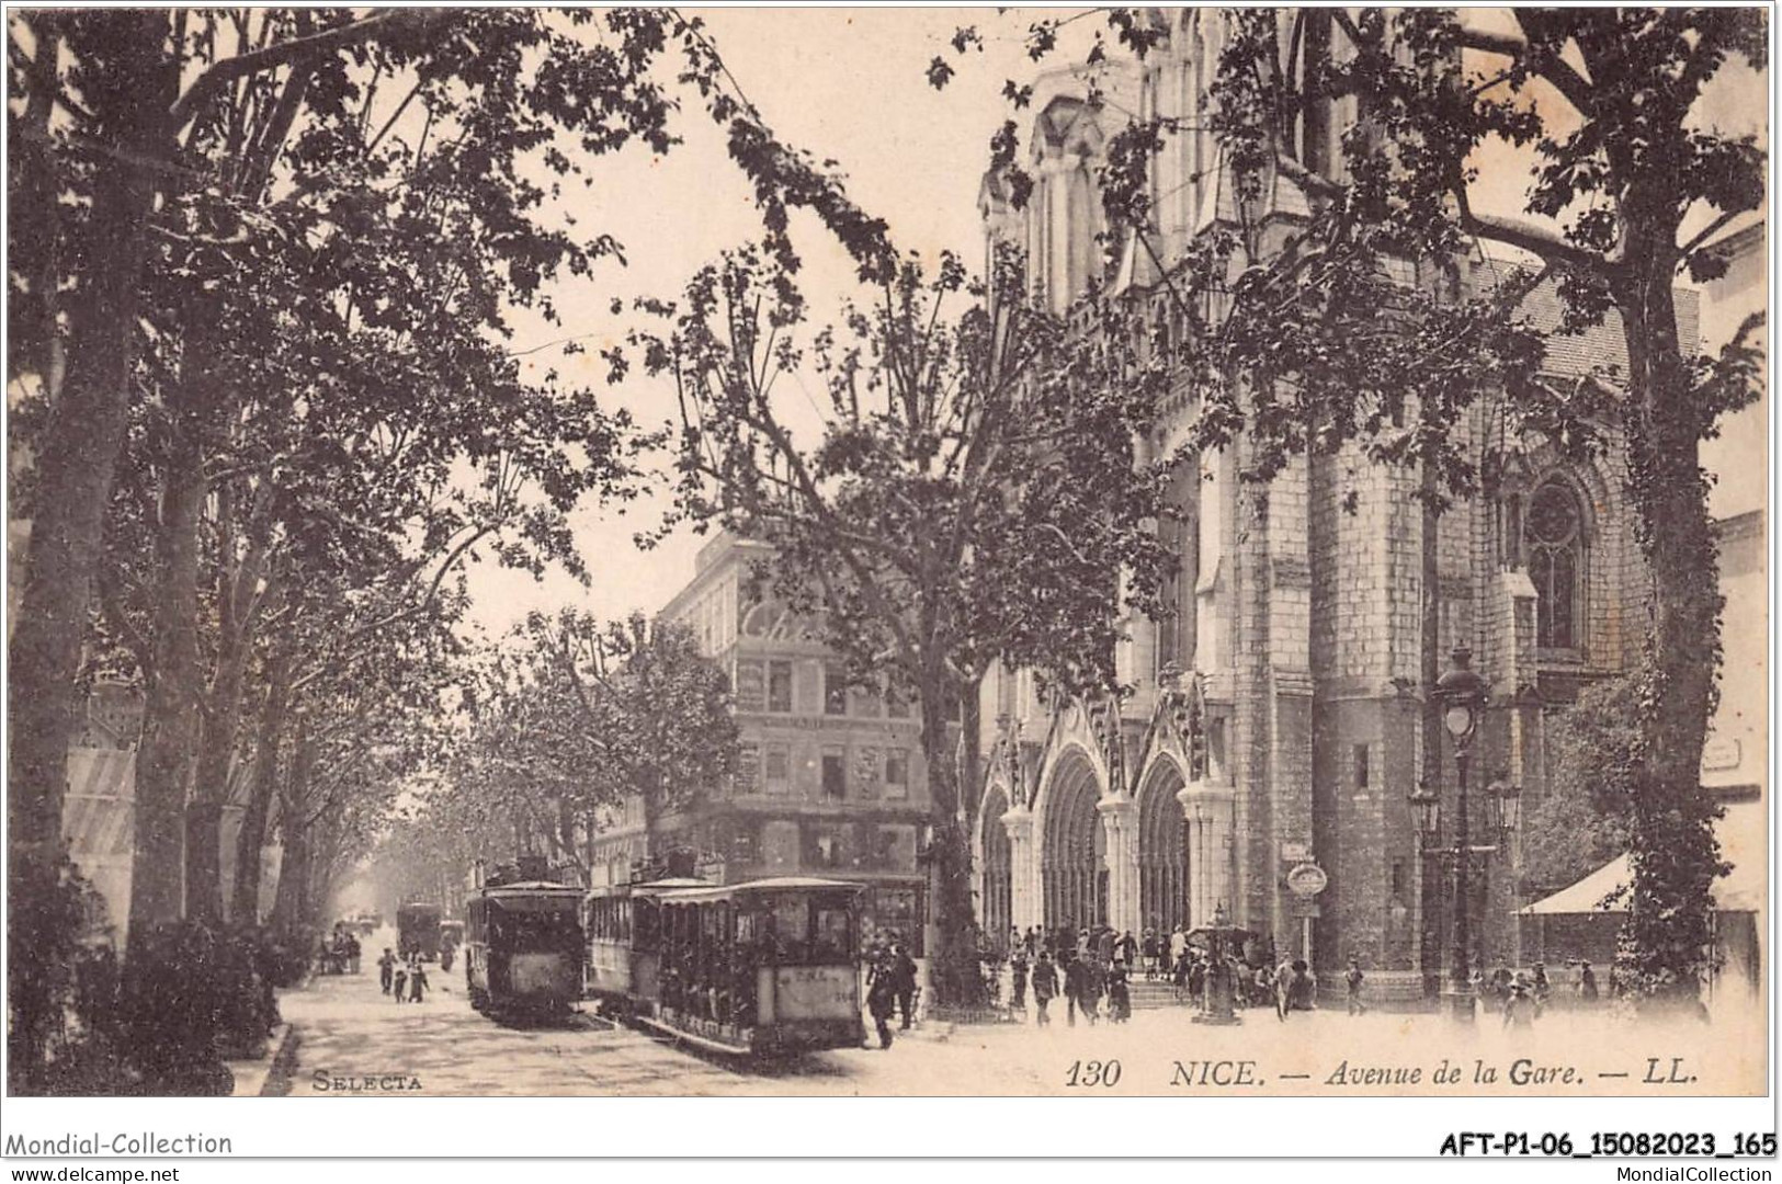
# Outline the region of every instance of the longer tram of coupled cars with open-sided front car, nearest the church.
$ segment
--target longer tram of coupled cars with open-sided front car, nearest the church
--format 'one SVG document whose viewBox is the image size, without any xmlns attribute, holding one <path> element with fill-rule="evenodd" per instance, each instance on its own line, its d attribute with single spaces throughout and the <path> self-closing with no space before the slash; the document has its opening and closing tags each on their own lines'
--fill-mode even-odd
<svg viewBox="0 0 1782 1184">
<path fill-rule="evenodd" d="M 857 1049 L 859 896 L 841 880 L 654 881 L 588 894 L 588 993 L 732 1054 Z"/>
</svg>

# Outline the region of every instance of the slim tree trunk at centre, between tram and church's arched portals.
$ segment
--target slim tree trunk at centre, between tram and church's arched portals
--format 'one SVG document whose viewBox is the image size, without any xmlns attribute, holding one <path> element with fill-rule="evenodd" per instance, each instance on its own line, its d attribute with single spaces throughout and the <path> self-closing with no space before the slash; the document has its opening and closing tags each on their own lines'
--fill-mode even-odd
<svg viewBox="0 0 1782 1184">
<path fill-rule="evenodd" d="M 923 678 L 921 755 L 928 766 L 928 912 L 936 947 L 928 951 L 928 977 L 937 1002 L 977 1006 L 984 1001 L 978 949 L 973 935 L 971 846 L 959 812 L 959 771 L 946 718 L 948 680 L 936 671 Z"/>
</svg>

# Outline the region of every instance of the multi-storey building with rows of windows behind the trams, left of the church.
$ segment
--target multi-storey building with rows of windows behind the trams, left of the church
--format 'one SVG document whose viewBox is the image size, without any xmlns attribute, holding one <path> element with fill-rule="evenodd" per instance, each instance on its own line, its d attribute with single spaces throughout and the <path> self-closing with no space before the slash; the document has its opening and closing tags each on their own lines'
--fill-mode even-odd
<svg viewBox="0 0 1782 1184">
<path fill-rule="evenodd" d="M 741 732 L 732 782 L 693 805 L 645 821 L 640 803 L 602 819 L 597 876 L 634 858 L 693 847 L 725 883 L 763 876 L 830 876 L 868 885 L 868 931 L 920 944 L 925 876 L 916 853 L 928 817 L 920 714 L 846 671 L 807 621 L 752 595 L 768 552 L 720 534 L 699 552 L 693 580 L 661 620 L 693 632 L 723 668 Z M 604 865 L 604 867 L 602 867 Z"/>
</svg>

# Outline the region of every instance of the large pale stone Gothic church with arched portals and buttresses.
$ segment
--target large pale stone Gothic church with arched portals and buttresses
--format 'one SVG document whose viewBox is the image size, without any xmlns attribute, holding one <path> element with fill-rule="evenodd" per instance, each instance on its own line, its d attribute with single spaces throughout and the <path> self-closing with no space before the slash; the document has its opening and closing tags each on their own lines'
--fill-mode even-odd
<svg viewBox="0 0 1782 1184">
<path fill-rule="evenodd" d="M 1167 312 L 1151 290 L 1153 265 L 1096 240 L 1103 142 L 1130 118 L 1198 123 L 1217 69 L 1221 12 L 1157 20 L 1167 21 L 1167 43 L 1142 66 L 1098 75 L 1099 105 L 1069 71 L 1035 84 L 1025 141 L 1035 187 L 1023 210 L 1001 178 L 985 178 L 987 240 L 1025 246 L 1057 310 L 1099 274 Z M 1308 119 L 1301 135 L 1326 142 L 1303 142 L 1301 160 L 1333 167 L 1353 118 L 1336 103 Z M 1165 144 L 1153 166 L 1153 244 L 1167 265 L 1237 210 L 1210 134 Z M 1263 242 L 1279 242 L 1306 212 L 1304 194 L 1278 174 L 1253 221 Z M 1463 262 L 1463 280 L 1477 287 L 1502 271 L 1508 264 L 1483 253 Z M 1693 310 L 1684 299 L 1686 340 Z M 1559 324 L 1550 288 L 1525 312 L 1541 328 Z M 1614 320 L 1549 349 L 1556 381 L 1620 360 Z M 1171 454 L 1194 415 L 1192 392 L 1173 395 L 1149 454 Z M 1281 956 L 1310 956 L 1331 981 L 1356 954 L 1374 988 L 1424 990 L 1449 956 L 1447 872 L 1420 855 L 1408 803 L 1426 774 L 1429 632 L 1442 668 L 1465 645 L 1490 684 L 1472 757 L 1475 810 L 1497 780 L 1520 787 L 1527 817 L 1545 789 L 1550 714 L 1631 666 L 1645 620 L 1618 450 L 1563 463 L 1545 442 L 1516 438 L 1492 399 L 1459 431 L 1493 475 L 1492 495 L 1442 515 L 1429 552 L 1418 474 L 1370 465 L 1358 450 L 1299 459 L 1265 488 L 1238 483 L 1244 440 L 1178 472 L 1183 522 L 1162 527 L 1180 554 L 1176 612 L 1126 621 L 1119 668 L 1133 693 L 1042 705 L 1025 671 L 985 680 L 989 758 L 975 835 L 985 931 L 1096 922 L 1167 931 L 1210 924 L 1222 906 L 1263 945 L 1272 938 Z M 1452 803 L 1454 760 L 1442 744 L 1427 769 Z M 1481 831 L 1475 814 L 1474 842 L 1484 842 Z M 1287 885 L 1306 864 L 1328 878 L 1313 897 Z M 1493 965 L 1518 956 L 1518 864 L 1515 839 L 1474 864 L 1474 956 Z"/>
</svg>

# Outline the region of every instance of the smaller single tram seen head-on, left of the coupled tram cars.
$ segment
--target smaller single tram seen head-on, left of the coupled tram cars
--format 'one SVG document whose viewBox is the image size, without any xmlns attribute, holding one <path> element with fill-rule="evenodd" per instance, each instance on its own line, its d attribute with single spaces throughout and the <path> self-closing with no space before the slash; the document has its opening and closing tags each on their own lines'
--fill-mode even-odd
<svg viewBox="0 0 1782 1184">
<path fill-rule="evenodd" d="M 485 885 L 465 904 L 463 983 L 478 1011 L 565 1013 L 581 999 L 581 888 Z"/>
</svg>

